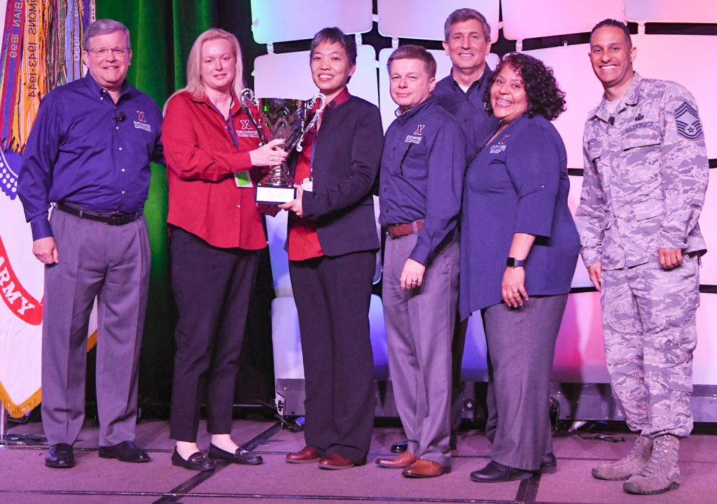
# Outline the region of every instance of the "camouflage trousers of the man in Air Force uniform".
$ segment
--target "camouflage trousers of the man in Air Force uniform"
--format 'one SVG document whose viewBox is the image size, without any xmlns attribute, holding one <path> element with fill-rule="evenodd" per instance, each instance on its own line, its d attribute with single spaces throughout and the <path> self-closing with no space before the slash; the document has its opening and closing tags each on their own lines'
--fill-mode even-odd
<svg viewBox="0 0 717 504">
<path fill-rule="evenodd" d="M 634 432 L 692 432 L 692 353 L 697 345 L 699 260 L 602 272 L 602 325 L 612 396 Z"/>
</svg>

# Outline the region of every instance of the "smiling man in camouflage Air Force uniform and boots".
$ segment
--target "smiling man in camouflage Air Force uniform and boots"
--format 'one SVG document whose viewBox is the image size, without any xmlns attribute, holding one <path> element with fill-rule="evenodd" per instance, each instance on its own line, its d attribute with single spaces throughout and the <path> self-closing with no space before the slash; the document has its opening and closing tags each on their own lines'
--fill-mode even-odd
<svg viewBox="0 0 717 504">
<path fill-rule="evenodd" d="M 678 488 L 680 438 L 692 431 L 697 343 L 698 217 L 708 159 L 697 105 L 683 86 L 643 79 L 625 24 L 607 19 L 590 39 L 602 103 L 589 113 L 576 224 L 581 255 L 602 293 L 612 394 L 634 432 L 630 455 L 600 465 L 625 492 Z"/>
</svg>

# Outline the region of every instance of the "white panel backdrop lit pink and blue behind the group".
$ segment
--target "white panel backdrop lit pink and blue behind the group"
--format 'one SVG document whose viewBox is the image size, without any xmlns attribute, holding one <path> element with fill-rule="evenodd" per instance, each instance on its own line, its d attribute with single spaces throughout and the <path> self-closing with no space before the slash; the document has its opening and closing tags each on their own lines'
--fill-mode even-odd
<svg viewBox="0 0 717 504">
<path fill-rule="evenodd" d="M 338 26 L 348 33 L 371 29 L 371 1 L 252 0 L 254 35 L 257 42 L 310 39 L 318 29 Z M 717 23 L 717 1 L 625 0 L 625 16 L 635 21 Z M 328 7 L 327 7 L 328 6 Z M 453 9 L 470 6 L 488 18 L 491 37 L 498 39 L 498 0 L 379 0 L 379 32 L 402 39 L 442 40 L 443 22 Z M 589 32 L 606 17 L 622 19 L 622 0 L 587 4 L 571 0 L 503 0 L 503 27 L 508 39 L 549 37 Z M 256 7 L 256 9 L 255 9 Z M 316 15 L 321 12 L 321 15 Z M 708 156 L 717 158 L 717 100 L 713 83 L 717 65 L 705 65 L 705 54 L 717 54 L 717 37 L 695 35 L 633 35 L 637 47 L 635 69 L 643 77 L 678 80 L 693 92 L 703 120 Z M 379 59 L 373 47 L 359 46 L 356 75 L 348 87 L 353 95 L 380 105 L 384 130 L 394 120 L 396 105 L 389 94 L 386 62 L 393 49 L 382 49 Z M 602 98 L 602 87 L 592 72 L 588 45 L 576 44 L 528 51 L 553 67 L 561 88 L 567 93 L 568 110 L 555 121 L 568 151 L 568 167 L 582 168 L 582 131 L 589 110 Z M 437 79 L 450 72 L 445 52 L 430 51 L 437 61 Z M 490 54 L 488 65 L 495 68 L 498 55 Z M 378 67 L 378 72 L 376 72 Z M 694 69 L 698 69 L 694 70 Z M 308 52 L 267 54 L 255 60 L 255 88 L 258 96 L 305 99 L 316 91 L 310 77 Z M 711 171 L 715 179 L 716 171 Z M 574 213 L 579 204 L 582 178 L 570 176 L 569 206 Z M 272 270 L 278 298 L 272 305 L 272 324 L 277 378 L 303 377 L 298 319 L 288 277 L 288 261 L 283 246 L 286 239 L 286 213 L 267 219 Z M 717 285 L 717 182 L 708 187 L 701 227 L 711 253 L 703 258 L 701 283 Z M 714 258 L 713 258 L 714 257 Z M 579 260 L 573 287 L 591 287 L 587 271 Z M 695 383 L 717 384 L 717 341 L 711 338 L 717 327 L 717 295 L 701 295 L 698 310 L 700 342 L 695 352 Z M 388 376 L 386 338 L 380 298 L 371 299 L 371 342 L 376 376 Z M 463 360 L 465 379 L 485 381 L 485 336 L 480 315 L 469 323 Z M 554 381 L 607 382 L 604 362 L 602 323 L 598 293 L 576 293 L 568 306 L 556 346 Z"/>
</svg>

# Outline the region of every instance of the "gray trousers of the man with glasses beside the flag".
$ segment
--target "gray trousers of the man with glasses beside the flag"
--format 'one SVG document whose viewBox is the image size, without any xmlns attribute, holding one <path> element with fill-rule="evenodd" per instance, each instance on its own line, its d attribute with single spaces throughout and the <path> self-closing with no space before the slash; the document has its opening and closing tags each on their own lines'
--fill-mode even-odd
<svg viewBox="0 0 717 504">
<path fill-rule="evenodd" d="M 45 267 L 42 424 L 49 444 L 72 444 L 85 419 L 87 326 L 98 296 L 100 446 L 135 437 L 139 351 L 149 287 L 147 222 L 110 226 L 57 209 L 60 263 Z"/>
</svg>

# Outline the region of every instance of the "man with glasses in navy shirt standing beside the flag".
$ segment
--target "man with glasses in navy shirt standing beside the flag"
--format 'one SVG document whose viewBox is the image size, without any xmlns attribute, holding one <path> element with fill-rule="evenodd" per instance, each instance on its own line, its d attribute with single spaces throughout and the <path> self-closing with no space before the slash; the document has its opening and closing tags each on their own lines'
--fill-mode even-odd
<svg viewBox="0 0 717 504">
<path fill-rule="evenodd" d="M 125 81 L 128 29 L 110 19 L 83 40 L 84 79 L 40 105 L 18 194 L 45 264 L 42 423 L 48 467 L 72 467 L 85 417 L 87 325 L 98 298 L 100 457 L 148 462 L 134 443 L 138 358 L 149 286 L 142 215 L 150 162 L 161 159 L 161 110 Z M 48 222 L 48 210 L 56 203 Z"/>
</svg>

